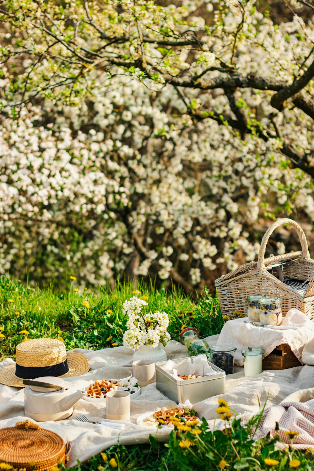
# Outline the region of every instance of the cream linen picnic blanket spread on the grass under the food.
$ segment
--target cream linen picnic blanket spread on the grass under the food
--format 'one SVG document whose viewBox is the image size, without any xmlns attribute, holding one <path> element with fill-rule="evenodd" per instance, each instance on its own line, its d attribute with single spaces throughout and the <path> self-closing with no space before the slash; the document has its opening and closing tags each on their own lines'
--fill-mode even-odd
<svg viewBox="0 0 314 471">
<path fill-rule="evenodd" d="M 210 346 L 217 344 L 218 336 L 208 337 Z M 73 390 L 81 389 L 95 379 L 122 378 L 132 373 L 132 352 L 125 347 L 102 350 L 75 351 L 82 353 L 89 359 L 90 371 L 80 377 L 66 378 L 64 381 L 71 384 Z M 185 347 L 175 341 L 169 342 L 167 348 L 168 358 L 179 358 L 185 355 Z M 0 363 L 0 368 L 12 363 L 11 359 Z M 227 376 L 227 393 L 224 398 L 237 412 L 257 413 L 258 400 L 267 406 L 278 405 L 284 398 L 295 393 L 295 400 L 306 401 L 313 398 L 314 367 L 298 366 L 283 371 L 266 371 L 254 378 L 245 378 L 243 368 L 236 367 L 237 373 Z M 305 391 L 307 390 L 307 391 Z M 301 399 L 298 399 L 298 398 Z M 199 417 L 204 416 L 213 423 L 216 416 L 217 396 L 206 399 L 196 405 Z M 76 458 L 81 462 L 88 460 L 92 455 L 103 451 L 118 442 L 120 444 L 135 444 L 148 441 L 150 429 L 142 429 L 136 424 L 136 418 L 145 412 L 155 411 L 162 407 L 174 407 L 174 402 L 165 398 L 155 388 L 155 383 L 142 388 L 140 396 L 131 401 L 131 421 L 126 423 L 122 431 L 107 429 L 102 425 L 82 423 L 73 419 L 59 422 L 41 422 L 40 426 L 58 433 L 64 441 L 72 440 L 70 453 L 70 466 L 76 465 Z M 76 413 L 86 414 L 90 417 L 105 418 L 105 408 L 80 399 Z M 23 389 L 12 388 L 0 384 L 0 428 L 10 427 L 24 419 Z M 157 439 L 167 441 L 169 431 L 158 430 Z"/>
</svg>

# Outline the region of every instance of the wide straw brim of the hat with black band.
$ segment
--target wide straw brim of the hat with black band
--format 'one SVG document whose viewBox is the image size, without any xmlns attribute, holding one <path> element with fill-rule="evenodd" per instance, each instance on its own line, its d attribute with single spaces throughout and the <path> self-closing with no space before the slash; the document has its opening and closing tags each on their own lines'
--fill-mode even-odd
<svg viewBox="0 0 314 471">
<path fill-rule="evenodd" d="M 81 353 L 68 352 L 67 355 L 69 371 L 60 376 L 60 378 L 68 378 L 69 376 L 81 376 L 81 374 L 89 371 L 89 360 L 81 355 Z M 15 365 L 5 366 L 0 370 L 0 383 L 16 388 L 24 388 L 23 379 L 18 378 L 15 374 Z"/>
</svg>

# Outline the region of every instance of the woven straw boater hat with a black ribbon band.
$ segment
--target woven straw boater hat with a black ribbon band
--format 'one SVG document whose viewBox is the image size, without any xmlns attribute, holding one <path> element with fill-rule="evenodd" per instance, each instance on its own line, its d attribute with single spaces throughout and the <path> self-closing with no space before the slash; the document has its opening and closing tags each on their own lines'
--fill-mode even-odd
<svg viewBox="0 0 314 471">
<path fill-rule="evenodd" d="M 49 371 L 48 367 L 50 367 Z M 47 373 L 45 373 L 45 368 Z M 62 371 L 66 371 L 68 368 L 69 371 L 58 374 L 61 371 L 60 368 Z M 56 374 L 54 374 L 54 370 Z M 68 378 L 87 373 L 89 361 L 81 353 L 66 353 L 65 346 L 60 340 L 32 339 L 16 346 L 16 365 L 8 365 L 0 370 L 0 383 L 24 388 L 23 379 L 19 377 L 21 371 L 27 376 L 27 379 L 40 376 Z M 16 376 L 16 373 L 19 376 Z"/>
</svg>

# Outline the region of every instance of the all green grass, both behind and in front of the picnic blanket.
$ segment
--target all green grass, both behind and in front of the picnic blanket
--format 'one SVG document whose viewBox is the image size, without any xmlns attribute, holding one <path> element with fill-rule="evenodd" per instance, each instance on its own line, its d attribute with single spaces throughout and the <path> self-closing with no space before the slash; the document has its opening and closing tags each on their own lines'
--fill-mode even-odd
<svg viewBox="0 0 314 471">
<path fill-rule="evenodd" d="M 121 345 L 127 320 L 122 313 L 122 304 L 134 295 L 147 300 L 150 311 L 168 313 L 169 333 L 174 340 L 178 340 L 185 325 L 193 325 L 201 337 L 205 337 L 219 333 L 224 324 L 217 298 L 211 298 L 206 289 L 201 297 L 192 300 L 174 287 L 171 292 L 165 292 L 156 290 L 153 284 L 139 283 L 134 287 L 129 283 L 117 283 L 113 290 L 105 286 L 93 292 L 77 289 L 78 283 L 69 279 L 61 292 L 53 285 L 39 289 L 1 277 L 0 360 L 14 357 L 16 345 L 27 338 L 61 338 L 67 349 Z M 299 471 L 314 469 L 314 450 L 307 455 L 290 447 L 279 451 L 274 447 L 276 440 L 267 437 L 257 442 L 252 440 L 259 420 L 260 414 L 251 419 L 249 428 L 243 428 L 240 419 L 234 419 L 232 430 L 217 430 L 214 434 L 207 431 L 204 422 L 200 428 L 196 427 L 199 434 L 174 430 L 169 444 L 158 443 L 151 436 L 149 444 L 116 445 L 105 454 L 95 455 L 79 465 L 79 471 L 283 471 L 293 469 L 291 459 L 298 460 L 294 464 L 299 462 Z M 182 442 L 190 443 L 189 440 L 193 445 L 182 447 Z M 278 466 L 268 466 L 264 461 L 268 458 L 278 461 Z"/>
</svg>

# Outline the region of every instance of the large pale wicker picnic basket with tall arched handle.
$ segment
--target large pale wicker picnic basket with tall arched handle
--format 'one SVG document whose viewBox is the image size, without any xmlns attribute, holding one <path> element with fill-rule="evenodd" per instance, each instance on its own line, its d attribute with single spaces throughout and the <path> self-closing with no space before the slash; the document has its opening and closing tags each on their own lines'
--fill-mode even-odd
<svg viewBox="0 0 314 471">
<path fill-rule="evenodd" d="M 298 233 L 302 251 L 271 255 L 265 259 L 270 235 L 276 227 L 290 224 Z M 300 309 L 314 318 L 314 260 L 308 252 L 306 236 L 292 219 L 278 219 L 268 227 L 260 245 L 258 261 L 250 262 L 221 276 L 215 281 L 221 311 L 224 315 L 234 311 L 247 313 L 247 297 L 267 294 L 281 298 L 282 314 L 291 308 Z"/>
</svg>

